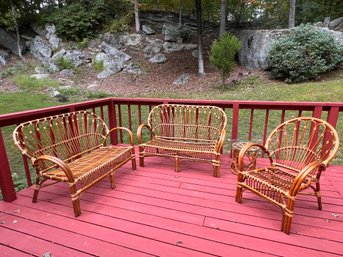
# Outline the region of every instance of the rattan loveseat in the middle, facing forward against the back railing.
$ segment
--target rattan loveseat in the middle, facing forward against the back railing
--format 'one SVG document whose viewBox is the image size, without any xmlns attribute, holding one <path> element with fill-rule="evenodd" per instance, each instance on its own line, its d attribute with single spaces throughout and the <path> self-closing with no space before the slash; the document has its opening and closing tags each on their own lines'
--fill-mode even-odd
<svg viewBox="0 0 343 257">
<path fill-rule="evenodd" d="M 227 118 L 216 106 L 162 104 L 149 113 L 148 123 L 137 129 L 139 163 L 144 158 L 163 156 L 175 159 L 175 171 L 181 160 L 209 162 L 213 176 L 220 176 L 220 154 L 225 139 Z M 143 129 L 150 138 L 143 142 Z"/>
</svg>

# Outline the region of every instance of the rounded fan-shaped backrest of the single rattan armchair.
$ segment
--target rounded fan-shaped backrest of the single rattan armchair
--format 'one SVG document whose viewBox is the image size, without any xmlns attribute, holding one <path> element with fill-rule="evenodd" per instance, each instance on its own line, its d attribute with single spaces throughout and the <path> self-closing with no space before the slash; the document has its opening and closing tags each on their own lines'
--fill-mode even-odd
<svg viewBox="0 0 343 257">
<path fill-rule="evenodd" d="M 299 171 L 313 161 L 325 165 L 336 155 L 339 138 L 327 122 L 299 117 L 288 120 L 272 131 L 266 141 L 276 165 Z"/>
</svg>

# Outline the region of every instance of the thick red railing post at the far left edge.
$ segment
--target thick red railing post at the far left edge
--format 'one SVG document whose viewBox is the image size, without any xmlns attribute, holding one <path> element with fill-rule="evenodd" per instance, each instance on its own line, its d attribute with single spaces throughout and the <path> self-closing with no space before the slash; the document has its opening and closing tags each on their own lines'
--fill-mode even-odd
<svg viewBox="0 0 343 257">
<path fill-rule="evenodd" d="M 17 199 L 10 165 L 8 163 L 6 148 L 0 129 L 0 187 L 5 202 L 12 202 Z"/>
</svg>

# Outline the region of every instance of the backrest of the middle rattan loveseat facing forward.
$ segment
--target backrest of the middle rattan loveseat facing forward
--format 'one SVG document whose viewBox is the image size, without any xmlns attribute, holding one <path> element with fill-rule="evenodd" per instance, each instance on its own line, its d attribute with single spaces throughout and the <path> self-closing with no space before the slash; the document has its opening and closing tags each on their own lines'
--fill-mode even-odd
<svg viewBox="0 0 343 257">
<path fill-rule="evenodd" d="M 191 140 L 217 140 L 226 128 L 225 112 L 216 106 L 162 104 L 148 118 L 158 137 Z"/>
</svg>

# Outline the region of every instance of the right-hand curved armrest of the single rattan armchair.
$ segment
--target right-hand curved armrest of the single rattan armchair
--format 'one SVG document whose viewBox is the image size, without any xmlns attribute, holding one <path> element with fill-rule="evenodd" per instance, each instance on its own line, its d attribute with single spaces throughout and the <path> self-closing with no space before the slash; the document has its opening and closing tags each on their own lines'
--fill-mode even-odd
<svg viewBox="0 0 343 257">
<path fill-rule="evenodd" d="M 318 172 L 322 172 L 326 169 L 326 165 L 320 161 L 313 161 L 306 165 L 295 177 L 292 186 L 289 189 L 290 196 L 295 196 L 299 190 L 308 188 L 311 185 L 311 180 L 308 180 L 305 184 L 304 182 L 308 179 L 308 175 L 315 169 L 318 169 Z"/>
</svg>

